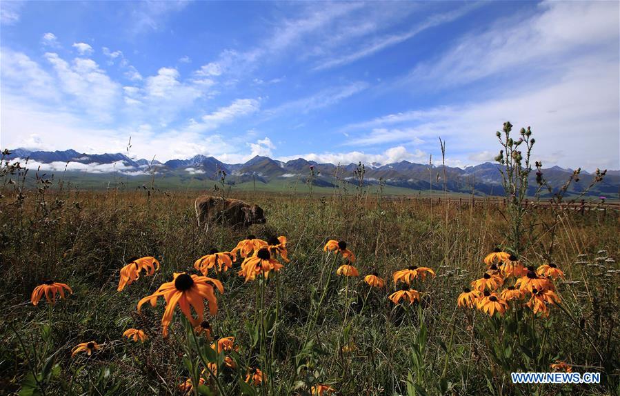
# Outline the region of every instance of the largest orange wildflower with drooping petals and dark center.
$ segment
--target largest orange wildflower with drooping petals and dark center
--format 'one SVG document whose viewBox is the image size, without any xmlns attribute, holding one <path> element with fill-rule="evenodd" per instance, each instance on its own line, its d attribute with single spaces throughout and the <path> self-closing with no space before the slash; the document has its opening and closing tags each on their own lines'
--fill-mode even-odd
<svg viewBox="0 0 620 396">
<path fill-rule="evenodd" d="M 194 326 L 203 321 L 205 308 L 203 301 L 205 299 L 209 301 L 210 314 L 215 315 L 217 313 L 217 299 L 215 298 L 213 286 L 217 287 L 219 293 L 224 292 L 221 282 L 217 279 L 188 275 L 186 273 L 174 273 L 173 281 L 162 284 L 155 293 L 139 301 L 138 312 L 140 312 L 141 306 L 147 301 L 150 302 L 151 306 L 155 306 L 157 304 L 157 297 L 163 296 L 166 299 L 166 311 L 163 313 L 163 317 L 161 317 L 161 326 L 163 326 L 163 336 L 166 337 L 168 335 L 168 326 L 170 326 L 172 314 L 177 304 L 181 308 L 183 315 Z M 197 319 L 192 317 L 190 306 L 194 308 Z"/>
</svg>

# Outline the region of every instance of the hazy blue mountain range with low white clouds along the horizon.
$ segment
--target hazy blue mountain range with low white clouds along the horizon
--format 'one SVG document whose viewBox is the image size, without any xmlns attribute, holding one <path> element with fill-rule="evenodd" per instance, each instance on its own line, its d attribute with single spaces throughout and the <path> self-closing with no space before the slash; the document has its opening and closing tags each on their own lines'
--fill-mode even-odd
<svg viewBox="0 0 620 396">
<path fill-rule="evenodd" d="M 336 187 L 346 184 L 358 184 L 356 177 L 358 164 L 335 165 L 319 164 L 299 158 L 291 161 L 278 161 L 269 157 L 254 157 L 245 164 L 225 164 L 214 157 L 196 155 L 190 159 L 171 159 L 166 162 L 148 161 L 147 159 L 132 159 L 122 153 L 115 154 L 84 154 L 75 150 L 65 151 L 31 151 L 23 148 L 10 150 L 5 160 L 20 161 L 28 168 L 32 164 L 41 169 L 41 172 L 63 172 L 77 181 L 80 175 L 99 175 L 109 177 L 111 173 L 121 174 L 128 178 L 156 177 L 174 179 L 179 187 L 190 181 L 219 180 L 226 172 L 226 183 L 243 184 L 276 184 L 283 182 L 301 181 L 306 183 L 312 171 L 312 183 L 319 187 Z M 312 169 L 312 170 L 311 170 Z M 414 164 L 409 161 L 400 161 L 394 164 L 379 166 L 378 164 L 364 165 L 365 185 L 379 184 L 383 181 L 386 186 L 406 188 L 410 190 L 442 190 L 443 167 Z M 535 172 L 532 172 L 529 193 L 533 195 L 537 184 L 534 181 Z M 544 177 L 551 186 L 559 188 L 572 175 L 572 170 L 553 166 L 543 169 Z M 592 181 L 592 175 L 581 171 L 579 182 L 573 184 L 570 192 L 580 192 Z M 607 195 L 616 197 L 620 186 L 620 171 L 611 170 L 606 177 L 590 191 L 591 195 Z M 456 168 L 446 166 L 446 188 L 450 192 L 465 192 L 477 195 L 501 195 L 501 174 L 499 165 L 486 162 L 477 166 Z"/>
</svg>

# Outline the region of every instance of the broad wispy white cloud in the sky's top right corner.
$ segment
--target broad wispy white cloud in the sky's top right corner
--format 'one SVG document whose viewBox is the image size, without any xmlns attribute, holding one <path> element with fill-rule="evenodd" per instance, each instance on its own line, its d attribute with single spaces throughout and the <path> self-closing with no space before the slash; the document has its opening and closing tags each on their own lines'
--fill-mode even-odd
<svg viewBox="0 0 620 396">
<path fill-rule="evenodd" d="M 533 17 L 501 19 L 490 29 L 459 39 L 439 59 L 417 66 L 409 80 L 454 86 L 508 70 L 514 80 L 517 72 L 557 72 L 575 55 L 587 56 L 601 46 L 615 46 L 617 57 L 619 3 L 544 1 L 539 11 Z"/>
</svg>

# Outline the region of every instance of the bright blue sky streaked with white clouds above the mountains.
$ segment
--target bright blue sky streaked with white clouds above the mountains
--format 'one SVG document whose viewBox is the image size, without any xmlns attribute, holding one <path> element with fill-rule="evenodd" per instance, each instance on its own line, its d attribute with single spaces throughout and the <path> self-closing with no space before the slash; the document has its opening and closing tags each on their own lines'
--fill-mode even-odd
<svg viewBox="0 0 620 396">
<path fill-rule="evenodd" d="M 2 147 L 619 166 L 619 3 L 2 1 Z"/>
</svg>

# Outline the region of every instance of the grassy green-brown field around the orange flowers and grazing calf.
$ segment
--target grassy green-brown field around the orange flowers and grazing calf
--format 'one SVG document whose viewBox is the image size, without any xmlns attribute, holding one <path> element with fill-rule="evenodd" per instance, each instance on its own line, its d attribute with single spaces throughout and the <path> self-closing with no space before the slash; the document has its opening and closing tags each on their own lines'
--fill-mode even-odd
<svg viewBox="0 0 620 396">
<path fill-rule="evenodd" d="M 485 273 L 483 259 L 494 246 L 509 243 L 506 213 L 496 206 L 388 201 L 368 192 L 311 198 L 233 190 L 234 197 L 262 206 L 267 224 L 214 226 L 206 233 L 194 219 L 197 191 L 41 188 L 16 199 L 13 188 L 4 187 L 0 215 L 4 393 L 183 394 L 179 384 L 192 378 L 201 386 L 191 393 L 226 395 L 308 395 L 317 384 L 337 395 L 603 395 L 619 389 L 619 219 L 612 211 L 563 212 L 555 223 L 552 212 L 526 214 L 519 259 L 535 267 L 550 260 L 566 273 L 554 282 L 561 303 L 549 304 L 549 316 L 542 317 L 523 306 L 527 300 L 514 300 L 506 313 L 490 317 L 457 307 L 457 297 Z M 549 224 L 556 224 L 553 232 Z M 212 248 L 231 250 L 248 234 L 285 235 L 290 262 L 280 259 L 283 268 L 268 281 L 244 283 L 239 260 L 227 272 L 210 272 L 224 287 L 216 292 L 217 315 L 208 317 L 212 337 L 234 337 L 237 351 L 211 353 L 178 307 L 163 337 L 163 300 L 138 313 L 139 299 L 172 281 L 173 273 L 196 274 L 196 259 Z M 347 241 L 359 277 L 336 275 L 344 261 L 323 251 L 327 239 Z M 120 268 L 143 256 L 156 257 L 161 268 L 117 292 Z M 392 274 L 412 265 L 437 276 L 412 282 L 421 301 L 394 304 L 388 296 L 400 286 Z M 363 281 L 373 272 L 385 287 Z M 30 293 L 46 279 L 68 284 L 73 293 L 33 306 Z M 128 328 L 148 339 L 123 337 Z M 101 349 L 71 357 L 74 346 L 88 341 Z M 235 368 L 222 364 L 224 356 Z M 217 375 L 203 372 L 211 361 L 220 363 L 211 367 Z M 550 371 L 557 361 L 574 372 L 601 373 L 601 384 L 510 381 L 512 371 Z M 244 382 L 252 368 L 266 375 L 257 386 Z"/>
</svg>

